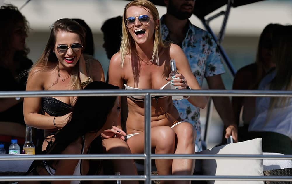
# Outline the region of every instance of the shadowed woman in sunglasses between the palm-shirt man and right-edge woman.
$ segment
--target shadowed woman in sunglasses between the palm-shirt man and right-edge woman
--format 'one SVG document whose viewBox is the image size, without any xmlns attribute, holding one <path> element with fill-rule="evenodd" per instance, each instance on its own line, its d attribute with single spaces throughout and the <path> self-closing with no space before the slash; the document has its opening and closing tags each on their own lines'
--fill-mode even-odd
<svg viewBox="0 0 292 184">
<path fill-rule="evenodd" d="M 239 69 L 235 75 L 232 89 L 256 90 L 260 81 L 267 72 L 275 67 L 272 62 L 272 37 L 273 32 L 281 27 L 280 24 L 268 24 L 260 34 L 256 62 Z M 242 109 L 243 126 L 239 128 L 239 141 L 248 140 L 247 129 L 249 122 L 256 113 L 256 98 L 253 97 L 233 97 L 233 112 L 237 121 L 240 122 L 240 112 Z"/>
</svg>

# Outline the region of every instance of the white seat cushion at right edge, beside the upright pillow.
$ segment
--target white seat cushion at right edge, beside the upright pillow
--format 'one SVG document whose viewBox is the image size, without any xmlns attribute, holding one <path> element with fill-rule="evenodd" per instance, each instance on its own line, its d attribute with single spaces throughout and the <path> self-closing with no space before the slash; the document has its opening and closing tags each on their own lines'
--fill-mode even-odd
<svg viewBox="0 0 292 184">
<path fill-rule="evenodd" d="M 281 153 L 263 153 L 263 155 L 283 155 Z M 292 167 L 292 160 L 268 160 L 263 159 L 264 171 L 273 169 L 285 169 Z"/>
</svg>

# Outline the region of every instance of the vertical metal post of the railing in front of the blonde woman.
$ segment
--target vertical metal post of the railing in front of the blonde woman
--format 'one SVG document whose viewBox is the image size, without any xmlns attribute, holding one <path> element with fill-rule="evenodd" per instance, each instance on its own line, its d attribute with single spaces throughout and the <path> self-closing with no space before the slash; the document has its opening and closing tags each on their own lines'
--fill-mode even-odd
<svg viewBox="0 0 292 184">
<path fill-rule="evenodd" d="M 151 95 L 147 93 L 145 95 L 144 102 L 145 110 L 145 131 L 144 131 L 144 155 L 146 157 L 144 161 L 144 175 L 146 177 L 145 184 L 151 184 Z"/>
</svg>

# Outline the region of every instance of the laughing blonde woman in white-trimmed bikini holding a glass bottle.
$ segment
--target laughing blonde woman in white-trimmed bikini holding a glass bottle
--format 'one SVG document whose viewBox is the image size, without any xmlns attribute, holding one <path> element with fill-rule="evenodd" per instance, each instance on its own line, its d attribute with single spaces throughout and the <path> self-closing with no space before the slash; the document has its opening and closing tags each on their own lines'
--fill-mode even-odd
<svg viewBox="0 0 292 184">
<path fill-rule="evenodd" d="M 180 79 L 168 79 L 170 59 L 176 60 L 180 74 L 175 77 Z M 169 89 L 170 85 L 178 89 L 200 89 L 182 49 L 162 41 L 159 14 L 150 1 L 135 0 L 125 6 L 121 48 L 110 61 L 109 83 L 126 89 Z M 188 100 L 201 108 L 207 103 L 203 96 L 192 96 Z M 142 153 L 144 96 L 128 96 L 127 105 L 127 143 L 132 153 Z M 196 131 L 190 123 L 181 122 L 171 96 L 152 97 L 151 125 L 153 152 L 194 154 Z M 191 175 L 194 171 L 194 160 L 190 159 L 160 159 L 155 163 L 160 175 Z"/>
</svg>

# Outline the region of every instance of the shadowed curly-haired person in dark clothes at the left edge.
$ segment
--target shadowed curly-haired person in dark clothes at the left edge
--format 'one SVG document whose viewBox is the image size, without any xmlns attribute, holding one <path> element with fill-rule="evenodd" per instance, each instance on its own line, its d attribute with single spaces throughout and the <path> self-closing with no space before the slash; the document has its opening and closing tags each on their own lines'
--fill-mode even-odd
<svg viewBox="0 0 292 184">
<path fill-rule="evenodd" d="M 0 8 L 0 91 L 24 91 L 27 76 L 24 72 L 32 66 L 27 58 L 25 44 L 29 23 L 17 7 L 6 4 Z M 25 141 L 23 98 L 0 98 L 0 142 L 6 152 L 11 139 L 22 147 Z"/>
</svg>

